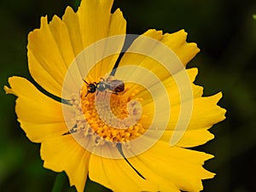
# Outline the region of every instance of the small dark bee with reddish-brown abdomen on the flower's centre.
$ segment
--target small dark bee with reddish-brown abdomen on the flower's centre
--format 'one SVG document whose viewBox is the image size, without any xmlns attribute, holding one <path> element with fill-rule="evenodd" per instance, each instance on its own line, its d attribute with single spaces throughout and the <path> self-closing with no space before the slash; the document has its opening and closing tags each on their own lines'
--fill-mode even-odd
<svg viewBox="0 0 256 192">
<path fill-rule="evenodd" d="M 84 79 L 83 79 L 84 80 Z M 85 84 L 88 84 L 88 90 L 87 94 L 89 93 L 95 93 L 97 91 L 106 91 L 111 90 L 113 94 L 118 94 L 119 92 L 122 92 L 125 90 L 125 84 L 121 80 L 113 79 L 113 76 L 109 76 L 107 80 L 102 79 L 99 83 L 93 82 L 91 84 L 87 83 L 84 80 Z M 98 93 L 96 93 L 98 94 Z"/>
</svg>

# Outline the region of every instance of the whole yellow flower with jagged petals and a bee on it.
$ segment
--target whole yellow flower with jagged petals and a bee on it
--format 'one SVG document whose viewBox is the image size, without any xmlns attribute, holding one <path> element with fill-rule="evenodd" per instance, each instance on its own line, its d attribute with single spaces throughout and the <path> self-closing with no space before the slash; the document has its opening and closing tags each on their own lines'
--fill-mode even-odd
<svg viewBox="0 0 256 192">
<path fill-rule="evenodd" d="M 79 192 L 87 175 L 117 192 L 200 191 L 214 176 L 202 167 L 212 155 L 187 148 L 213 138 L 207 130 L 224 119 L 221 93 L 203 97 L 193 84 L 197 69 L 183 66 L 199 49 L 183 30 L 136 37 L 113 71 L 126 23 L 112 4 L 83 0 L 77 13 L 67 7 L 49 24 L 42 17 L 29 34 L 32 78 L 63 102 L 9 78 L 20 126 L 41 143 L 44 167 L 67 172 Z"/>
</svg>

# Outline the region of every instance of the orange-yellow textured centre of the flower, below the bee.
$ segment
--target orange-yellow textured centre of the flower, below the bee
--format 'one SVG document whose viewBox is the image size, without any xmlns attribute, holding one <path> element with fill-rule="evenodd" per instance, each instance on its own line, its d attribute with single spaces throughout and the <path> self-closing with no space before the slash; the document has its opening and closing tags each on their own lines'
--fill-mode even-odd
<svg viewBox="0 0 256 192">
<path fill-rule="evenodd" d="M 88 93 L 88 84 L 81 90 L 81 108 L 84 113 L 84 136 L 93 136 L 96 144 L 104 141 L 119 143 L 129 142 L 143 135 L 146 129 L 140 123 L 142 108 L 136 98 L 137 91 L 125 88 L 121 93 L 114 94 L 111 90 L 96 90 Z M 86 131 L 87 130 L 87 131 Z"/>
</svg>

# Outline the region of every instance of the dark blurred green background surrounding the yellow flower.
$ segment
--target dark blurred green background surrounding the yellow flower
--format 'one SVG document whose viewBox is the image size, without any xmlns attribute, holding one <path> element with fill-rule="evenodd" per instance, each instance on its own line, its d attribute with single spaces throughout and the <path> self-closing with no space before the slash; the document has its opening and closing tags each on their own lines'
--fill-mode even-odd
<svg viewBox="0 0 256 192">
<path fill-rule="evenodd" d="M 6 96 L 3 85 L 9 76 L 31 79 L 26 61 L 28 32 L 39 27 L 40 16 L 61 16 L 72 0 L 13 0 L 0 6 L 0 191 L 51 191 L 55 172 L 43 168 L 39 144 L 31 143 L 20 129 L 15 116 L 15 96 Z M 227 119 L 214 125 L 216 138 L 196 149 L 215 154 L 206 167 L 217 176 L 204 181 L 206 192 L 256 191 L 256 1 L 231 0 L 116 0 L 122 9 L 128 33 L 141 34 L 148 28 L 189 32 L 188 41 L 196 42 L 201 53 L 189 63 L 199 67 L 197 84 L 205 96 L 223 91 L 219 104 L 226 108 Z M 65 189 L 68 187 L 67 177 Z M 87 191 L 109 191 L 96 183 Z"/>
</svg>

